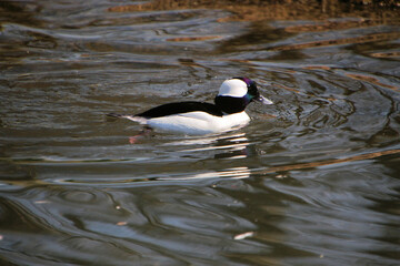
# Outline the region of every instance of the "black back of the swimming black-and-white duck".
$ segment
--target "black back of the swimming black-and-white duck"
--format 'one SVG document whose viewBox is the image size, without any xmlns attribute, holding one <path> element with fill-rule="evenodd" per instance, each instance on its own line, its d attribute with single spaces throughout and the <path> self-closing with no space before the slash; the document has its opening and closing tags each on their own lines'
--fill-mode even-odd
<svg viewBox="0 0 400 266">
<path fill-rule="evenodd" d="M 222 116 L 223 113 L 221 109 L 219 109 L 217 105 L 207 103 L 207 102 L 176 102 L 176 103 L 167 103 L 162 104 L 160 106 L 150 109 L 146 112 L 139 113 L 136 116 L 142 116 L 146 119 L 154 119 L 154 117 L 161 117 L 166 115 L 172 115 L 178 113 L 189 113 L 189 112 L 196 112 L 196 111 L 202 111 L 207 112 L 211 115 L 216 116 Z"/>
</svg>

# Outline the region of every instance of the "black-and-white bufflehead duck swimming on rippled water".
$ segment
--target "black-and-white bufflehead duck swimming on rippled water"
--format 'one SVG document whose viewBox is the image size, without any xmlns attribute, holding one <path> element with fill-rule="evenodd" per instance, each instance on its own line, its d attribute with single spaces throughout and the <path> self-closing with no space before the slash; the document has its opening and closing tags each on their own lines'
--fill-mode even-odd
<svg viewBox="0 0 400 266">
<path fill-rule="evenodd" d="M 188 135 L 206 135 L 248 124 L 250 117 L 244 109 L 252 101 L 272 104 L 270 100 L 260 95 L 254 81 L 248 78 L 232 78 L 222 83 L 214 104 L 176 102 L 136 115 L 114 113 L 108 115 L 129 119 L 143 124 L 146 129 Z"/>
</svg>

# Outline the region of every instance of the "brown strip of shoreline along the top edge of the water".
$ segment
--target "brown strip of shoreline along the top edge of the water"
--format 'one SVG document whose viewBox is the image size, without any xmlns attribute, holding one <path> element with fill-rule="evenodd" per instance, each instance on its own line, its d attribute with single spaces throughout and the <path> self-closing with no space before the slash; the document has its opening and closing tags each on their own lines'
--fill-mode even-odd
<svg viewBox="0 0 400 266">
<path fill-rule="evenodd" d="M 232 14 L 220 21 L 326 20 L 329 18 L 368 18 L 378 23 L 400 23 L 397 0 L 154 0 L 109 8 L 111 12 L 179 9 L 222 9 Z M 371 21 L 369 21 L 371 23 Z M 374 23 L 373 23 L 374 24 Z"/>
</svg>

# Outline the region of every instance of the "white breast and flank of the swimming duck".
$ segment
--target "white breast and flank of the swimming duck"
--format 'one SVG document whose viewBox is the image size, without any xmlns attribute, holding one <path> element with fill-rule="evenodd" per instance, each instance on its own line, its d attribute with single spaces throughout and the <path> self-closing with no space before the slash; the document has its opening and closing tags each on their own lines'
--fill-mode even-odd
<svg viewBox="0 0 400 266">
<path fill-rule="evenodd" d="M 147 124 L 156 130 L 183 133 L 189 135 L 206 135 L 229 131 L 248 124 L 247 113 L 234 113 L 214 116 L 204 112 L 190 112 L 148 120 Z"/>
</svg>

